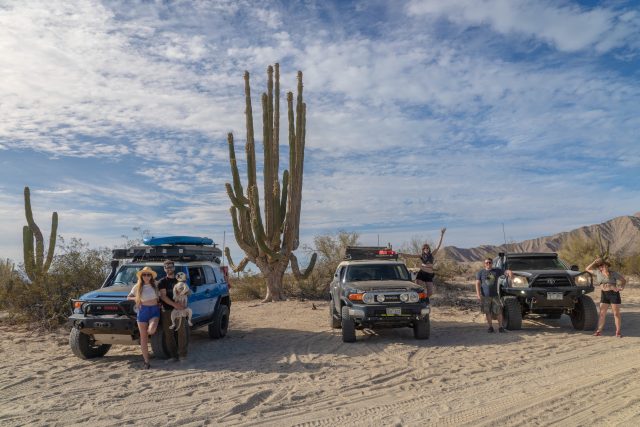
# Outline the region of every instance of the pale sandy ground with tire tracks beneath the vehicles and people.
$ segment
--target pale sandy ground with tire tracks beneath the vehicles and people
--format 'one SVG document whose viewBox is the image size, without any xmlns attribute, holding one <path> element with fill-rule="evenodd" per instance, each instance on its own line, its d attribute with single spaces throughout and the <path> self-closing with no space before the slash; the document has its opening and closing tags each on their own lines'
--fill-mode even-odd
<svg viewBox="0 0 640 427">
<path fill-rule="evenodd" d="M 0 425 L 637 426 L 640 289 L 623 302 L 622 339 L 611 314 L 603 337 L 567 316 L 487 334 L 476 311 L 436 307 L 428 341 L 389 329 L 354 344 L 326 302 L 238 302 L 226 338 L 196 331 L 188 361 L 150 371 L 137 347 L 82 361 L 63 333 L 4 326 Z"/>
</svg>

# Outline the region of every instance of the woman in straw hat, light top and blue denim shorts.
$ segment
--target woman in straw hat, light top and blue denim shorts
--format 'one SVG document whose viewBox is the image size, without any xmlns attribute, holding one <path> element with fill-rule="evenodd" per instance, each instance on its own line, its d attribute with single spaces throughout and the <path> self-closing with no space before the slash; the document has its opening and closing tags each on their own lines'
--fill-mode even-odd
<svg viewBox="0 0 640 427">
<path fill-rule="evenodd" d="M 160 306 L 158 305 L 157 273 L 150 267 L 144 267 L 136 273 L 138 283 L 131 289 L 127 299 L 136 302 L 138 309 L 138 330 L 140 331 L 140 348 L 144 358 L 144 369 L 149 369 L 149 336 L 153 335 L 160 321 Z"/>
</svg>

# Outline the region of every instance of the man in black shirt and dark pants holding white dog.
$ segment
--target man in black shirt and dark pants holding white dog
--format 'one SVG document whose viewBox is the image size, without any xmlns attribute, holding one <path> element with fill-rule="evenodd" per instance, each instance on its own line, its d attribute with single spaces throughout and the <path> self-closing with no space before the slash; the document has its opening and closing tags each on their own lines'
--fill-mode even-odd
<svg viewBox="0 0 640 427">
<path fill-rule="evenodd" d="M 171 311 L 175 308 L 183 310 L 182 304 L 178 304 L 173 300 L 173 285 L 178 283 L 176 279 L 176 269 L 173 261 L 166 260 L 164 262 L 164 271 L 167 273 L 165 277 L 158 282 L 158 290 L 160 291 L 160 300 L 162 301 L 162 331 L 164 333 L 165 343 L 169 354 L 174 360 L 183 360 L 187 357 L 187 322 L 181 322 L 178 332 L 178 346 L 174 331 L 169 329 L 171 326 Z"/>
</svg>

